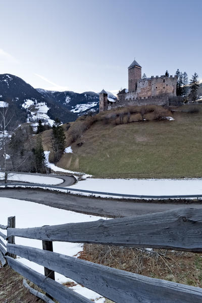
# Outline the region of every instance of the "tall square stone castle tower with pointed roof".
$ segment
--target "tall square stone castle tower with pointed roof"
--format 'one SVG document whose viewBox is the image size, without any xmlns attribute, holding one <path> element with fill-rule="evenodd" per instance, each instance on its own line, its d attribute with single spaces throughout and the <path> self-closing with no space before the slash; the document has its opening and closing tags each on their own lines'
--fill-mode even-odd
<svg viewBox="0 0 202 303">
<path fill-rule="evenodd" d="M 134 60 L 128 67 L 128 91 L 137 89 L 137 81 L 142 77 L 141 66 Z"/>
</svg>

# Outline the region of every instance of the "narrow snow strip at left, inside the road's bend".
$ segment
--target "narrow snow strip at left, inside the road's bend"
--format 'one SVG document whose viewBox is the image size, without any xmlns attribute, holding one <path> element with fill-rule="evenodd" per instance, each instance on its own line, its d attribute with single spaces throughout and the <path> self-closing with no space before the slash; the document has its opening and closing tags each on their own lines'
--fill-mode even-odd
<svg viewBox="0 0 202 303">
<path fill-rule="evenodd" d="M 4 173 L 0 172 L 0 180 L 4 179 Z M 9 181 L 20 181 L 20 182 L 29 182 L 36 184 L 45 184 L 45 185 L 57 185 L 63 183 L 63 179 L 54 178 L 54 177 L 44 177 L 35 175 L 26 175 L 26 174 L 9 174 Z"/>
</svg>

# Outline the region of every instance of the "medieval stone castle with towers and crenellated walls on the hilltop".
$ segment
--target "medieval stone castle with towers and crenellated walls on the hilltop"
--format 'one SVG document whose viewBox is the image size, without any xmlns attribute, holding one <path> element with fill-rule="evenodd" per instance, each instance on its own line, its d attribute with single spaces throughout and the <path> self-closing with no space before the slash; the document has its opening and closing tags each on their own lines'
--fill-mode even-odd
<svg viewBox="0 0 202 303">
<path fill-rule="evenodd" d="M 103 89 L 99 93 L 99 112 L 127 105 L 179 106 L 182 99 L 176 96 L 176 76 L 151 76 L 142 78 L 141 66 L 134 60 L 128 67 L 128 89 L 117 94 L 117 99 L 109 98 Z"/>
</svg>

